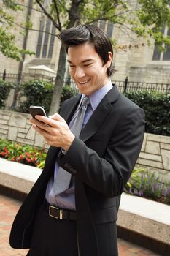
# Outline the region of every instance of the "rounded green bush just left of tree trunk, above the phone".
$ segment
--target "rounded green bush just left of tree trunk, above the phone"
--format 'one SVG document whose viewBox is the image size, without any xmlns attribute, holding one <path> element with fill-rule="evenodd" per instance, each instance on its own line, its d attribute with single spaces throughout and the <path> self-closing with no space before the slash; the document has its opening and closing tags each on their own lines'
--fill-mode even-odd
<svg viewBox="0 0 170 256">
<path fill-rule="evenodd" d="M 47 113 L 50 110 L 50 102 L 53 94 L 53 85 L 47 81 L 31 80 L 20 85 L 20 97 L 26 97 L 26 101 L 20 102 L 18 110 L 29 113 L 29 106 L 40 105 Z"/>
</svg>

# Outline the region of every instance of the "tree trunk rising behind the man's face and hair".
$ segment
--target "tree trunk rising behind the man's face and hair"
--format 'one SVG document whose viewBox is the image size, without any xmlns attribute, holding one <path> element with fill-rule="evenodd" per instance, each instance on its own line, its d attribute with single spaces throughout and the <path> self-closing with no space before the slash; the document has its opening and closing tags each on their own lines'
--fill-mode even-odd
<svg viewBox="0 0 170 256">
<path fill-rule="evenodd" d="M 78 7 L 82 1 L 80 0 L 72 1 L 72 6 L 69 10 L 69 24 L 67 26 L 67 29 L 71 28 L 72 26 L 75 26 L 77 22 L 78 13 L 79 13 Z M 58 59 L 58 70 L 55 78 L 55 85 L 54 85 L 53 97 L 50 105 L 49 115 L 58 113 L 58 110 L 60 107 L 61 91 L 62 91 L 65 72 L 66 72 L 66 51 L 64 50 L 63 45 L 61 45 L 61 50 L 60 50 L 59 59 Z"/>
</svg>

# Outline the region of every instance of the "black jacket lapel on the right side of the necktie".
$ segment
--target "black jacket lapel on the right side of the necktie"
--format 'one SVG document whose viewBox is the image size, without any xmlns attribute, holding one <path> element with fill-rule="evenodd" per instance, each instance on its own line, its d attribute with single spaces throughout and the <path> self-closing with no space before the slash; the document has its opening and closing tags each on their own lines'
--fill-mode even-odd
<svg viewBox="0 0 170 256">
<path fill-rule="evenodd" d="M 88 123 L 85 125 L 85 128 L 82 129 L 80 134 L 80 139 L 82 141 L 88 140 L 97 132 L 98 128 L 101 127 L 104 119 L 112 110 L 113 103 L 116 102 L 119 94 L 120 92 L 117 90 L 117 87 L 113 86 L 113 88 L 105 95 L 104 99 L 101 100 L 100 104 L 88 120 Z"/>
</svg>

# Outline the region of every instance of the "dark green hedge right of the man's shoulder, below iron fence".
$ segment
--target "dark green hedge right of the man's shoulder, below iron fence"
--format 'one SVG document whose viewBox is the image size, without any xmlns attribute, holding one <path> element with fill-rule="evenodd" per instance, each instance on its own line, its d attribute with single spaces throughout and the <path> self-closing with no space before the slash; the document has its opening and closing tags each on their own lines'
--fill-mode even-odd
<svg viewBox="0 0 170 256">
<path fill-rule="evenodd" d="M 157 91 L 131 91 L 125 96 L 143 108 L 148 133 L 170 136 L 170 94 Z"/>
</svg>

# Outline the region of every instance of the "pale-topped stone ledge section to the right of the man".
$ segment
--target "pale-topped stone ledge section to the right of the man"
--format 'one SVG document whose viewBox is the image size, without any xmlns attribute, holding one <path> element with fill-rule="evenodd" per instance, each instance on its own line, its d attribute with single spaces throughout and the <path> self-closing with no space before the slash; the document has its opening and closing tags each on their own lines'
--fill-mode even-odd
<svg viewBox="0 0 170 256">
<path fill-rule="evenodd" d="M 117 225 L 170 246 L 170 206 L 123 193 Z"/>
</svg>

